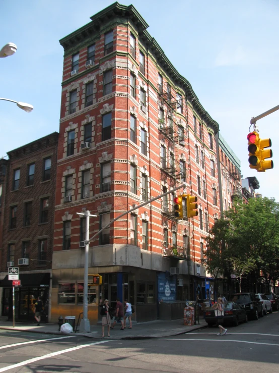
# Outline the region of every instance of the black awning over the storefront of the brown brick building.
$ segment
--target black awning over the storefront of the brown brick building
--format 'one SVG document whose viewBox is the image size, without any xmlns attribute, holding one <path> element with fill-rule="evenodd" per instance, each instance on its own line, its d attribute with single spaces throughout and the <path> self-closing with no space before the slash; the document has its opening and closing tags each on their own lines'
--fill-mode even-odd
<svg viewBox="0 0 279 373">
<path fill-rule="evenodd" d="M 49 279 L 50 273 L 25 273 L 20 274 L 19 279 L 21 281 L 21 287 L 49 287 Z M 0 287 L 1 288 L 11 288 L 12 281 L 8 280 L 8 275 L 3 279 L 0 280 Z"/>
</svg>

